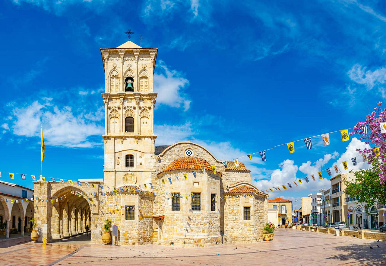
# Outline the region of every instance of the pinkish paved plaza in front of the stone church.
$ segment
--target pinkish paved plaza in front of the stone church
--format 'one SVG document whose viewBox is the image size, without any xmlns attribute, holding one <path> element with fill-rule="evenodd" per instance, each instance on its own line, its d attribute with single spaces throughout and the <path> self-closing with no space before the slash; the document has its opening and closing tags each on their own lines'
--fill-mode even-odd
<svg viewBox="0 0 386 266">
<path fill-rule="evenodd" d="M 214 247 L 103 246 L 80 235 L 48 244 L 0 241 L 2 265 L 386 265 L 386 242 L 278 230 L 271 242 Z M 377 244 L 380 247 L 377 247 Z M 373 249 L 370 249 L 370 246 Z"/>
</svg>

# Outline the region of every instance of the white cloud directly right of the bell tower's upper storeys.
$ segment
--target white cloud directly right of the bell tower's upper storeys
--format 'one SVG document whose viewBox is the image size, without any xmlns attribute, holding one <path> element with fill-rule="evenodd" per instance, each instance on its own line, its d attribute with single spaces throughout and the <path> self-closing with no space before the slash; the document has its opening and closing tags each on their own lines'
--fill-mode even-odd
<svg viewBox="0 0 386 266">
<path fill-rule="evenodd" d="M 154 73 L 154 91 L 158 92 L 157 102 L 171 107 L 183 107 L 188 110 L 191 101 L 185 93 L 189 80 L 177 70 L 170 70 L 163 61 L 157 64 Z"/>
</svg>

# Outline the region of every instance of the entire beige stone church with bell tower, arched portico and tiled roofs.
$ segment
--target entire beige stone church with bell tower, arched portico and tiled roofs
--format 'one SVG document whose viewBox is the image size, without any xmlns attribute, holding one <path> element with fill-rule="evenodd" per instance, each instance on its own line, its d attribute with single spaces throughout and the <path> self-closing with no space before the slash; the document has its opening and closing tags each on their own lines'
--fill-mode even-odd
<svg viewBox="0 0 386 266">
<path fill-rule="evenodd" d="M 104 179 L 81 186 L 34 182 L 35 196 L 48 199 L 34 202 L 48 241 L 79 234 L 88 225 L 91 243 L 102 243 L 106 219 L 117 225 L 121 245 L 262 240 L 267 194 L 251 184 L 242 162 L 217 159 L 188 141 L 154 145 L 157 50 L 131 41 L 101 49 Z"/>
</svg>

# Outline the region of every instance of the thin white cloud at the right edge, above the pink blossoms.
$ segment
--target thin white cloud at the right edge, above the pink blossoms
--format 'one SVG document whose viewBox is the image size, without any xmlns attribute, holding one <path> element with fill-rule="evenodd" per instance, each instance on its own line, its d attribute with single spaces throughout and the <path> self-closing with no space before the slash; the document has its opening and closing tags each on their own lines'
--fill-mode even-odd
<svg viewBox="0 0 386 266">
<path fill-rule="evenodd" d="M 372 89 L 376 85 L 386 82 L 386 68 L 381 67 L 374 71 L 367 70 L 366 66 L 355 64 L 347 72 L 350 79 L 358 84 L 366 85 L 367 89 Z"/>
</svg>

